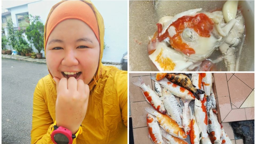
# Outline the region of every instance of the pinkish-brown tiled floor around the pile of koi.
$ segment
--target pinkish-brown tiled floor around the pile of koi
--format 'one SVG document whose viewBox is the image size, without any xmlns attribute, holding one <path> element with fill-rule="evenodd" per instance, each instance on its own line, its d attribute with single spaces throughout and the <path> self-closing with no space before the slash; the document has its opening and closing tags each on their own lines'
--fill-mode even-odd
<svg viewBox="0 0 256 144">
<path fill-rule="evenodd" d="M 246 75 L 248 75 L 248 73 Z M 151 105 L 146 101 L 145 97 L 143 96 L 141 88 L 132 84 L 132 82 L 137 81 L 139 76 L 142 77 L 142 79 L 146 83 L 146 85 L 149 85 L 153 89 L 154 81 L 151 80 L 151 76 L 155 76 L 155 73 L 130 73 L 129 74 L 129 77 L 130 77 L 129 99 L 130 99 L 130 107 L 131 107 L 131 116 L 130 117 L 132 117 L 132 123 L 133 123 L 134 143 L 135 144 L 152 143 L 152 141 L 149 139 L 149 136 L 148 136 L 148 129 L 147 129 L 147 123 L 146 123 L 147 112 L 144 109 L 145 107 L 151 107 Z M 217 100 L 217 105 L 218 104 L 220 105 L 220 106 L 218 106 L 218 112 L 219 112 L 219 110 L 221 110 L 219 112 L 219 113 L 221 113 L 221 115 L 224 114 L 224 115 L 227 115 L 230 117 L 230 118 L 227 117 L 227 119 L 233 119 L 232 116 L 235 115 L 235 114 L 233 114 L 233 111 L 232 111 L 235 109 L 235 107 L 234 107 L 235 105 L 233 106 L 234 108 L 231 106 L 231 102 L 233 101 L 233 99 L 230 100 L 231 99 L 230 92 L 229 92 L 230 85 L 228 82 L 231 78 L 233 79 L 233 76 L 235 78 L 241 77 L 241 79 L 243 79 L 242 83 L 243 84 L 246 83 L 245 85 L 246 86 L 248 85 L 248 87 L 250 88 L 250 89 L 248 89 L 248 88 L 246 89 L 247 93 L 248 93 L 247 97 L 246 98 L 244 98 L 245 96 L 241 97 L 241 99 L 243 99 L 244 102 L 240 102 L 237 99 L 235 99 L 235 100 L 237 100 L 237 102 L 240 102 L 241 104 L 239 106 L 240 109 L 236 108 L 237 111 L 234 111 L 234 112 L 239 113 L 239 117 L 241 119 L 243 117 L 246 117 L 247 119 L 254 119 L 254 91 L 253 91 L 254 75 L 253 75 L 253 78 L 248 79 L 247 77 L 245 77 L 242 74 L 238 74 L 238 75 L 236 75 L 236 74 L 233 75 L 232 73 L 214 74 L 214 78 L 215 78 L 214 93 L 215 93 L 215 97 Z M 226 81 L 222 81 L 223 79 Z M 251 79 L 253 80 L 253 83 L 250 81 Z M 244 82 L 244 81 L 246 81 L 246 82 Z M 235 82 L 233 82 L 233 83 L 235 83 Z M 239 83 L 237 90 L 235 90 L 235 91 L 237 91 L 237 93 L 235 93 L 235 94 L 239 94 L 238 88 L 242 86 L 242 83 Z M 243 88 L 245 89 L 245 87 L 243 87 Z M 249 91 L 251 90 L 250 93 L 248 92 L 248 90 Z M 253 93 L 251 94 L 252 91 L 253 91 Z M 243 92 L 246 93 L 245 90 Z M 235 97 L 235 94 L 233 95 L 234 97 Z M 253 101 L 253 103 L 251 103 L 251 101 Z M 239 105 L 239 103 L 237 103 L 237 104 Z M 222 112 L 223 108 L 225 109 L 225 111 Z M 241 110 L 243 110 L 243 111 L 240 112 Z M 244 115 L 242 115 L 242 114 L 244 114 Z M 218 115 L 218 117 L 220 117 L 220 116 Z M 222 125 L 224 127 L 225 132 L 227 133 L 227 135 L 230 137 L 231 141 L 233 142 L 233 144 L 242 144 L 243 143 L 242 139 L 235 140 L 233 130 L 228 122 L 222 122 Z M 189 139 L 187 139 L 187 142 L 190 143 Z"/>
</svg>

